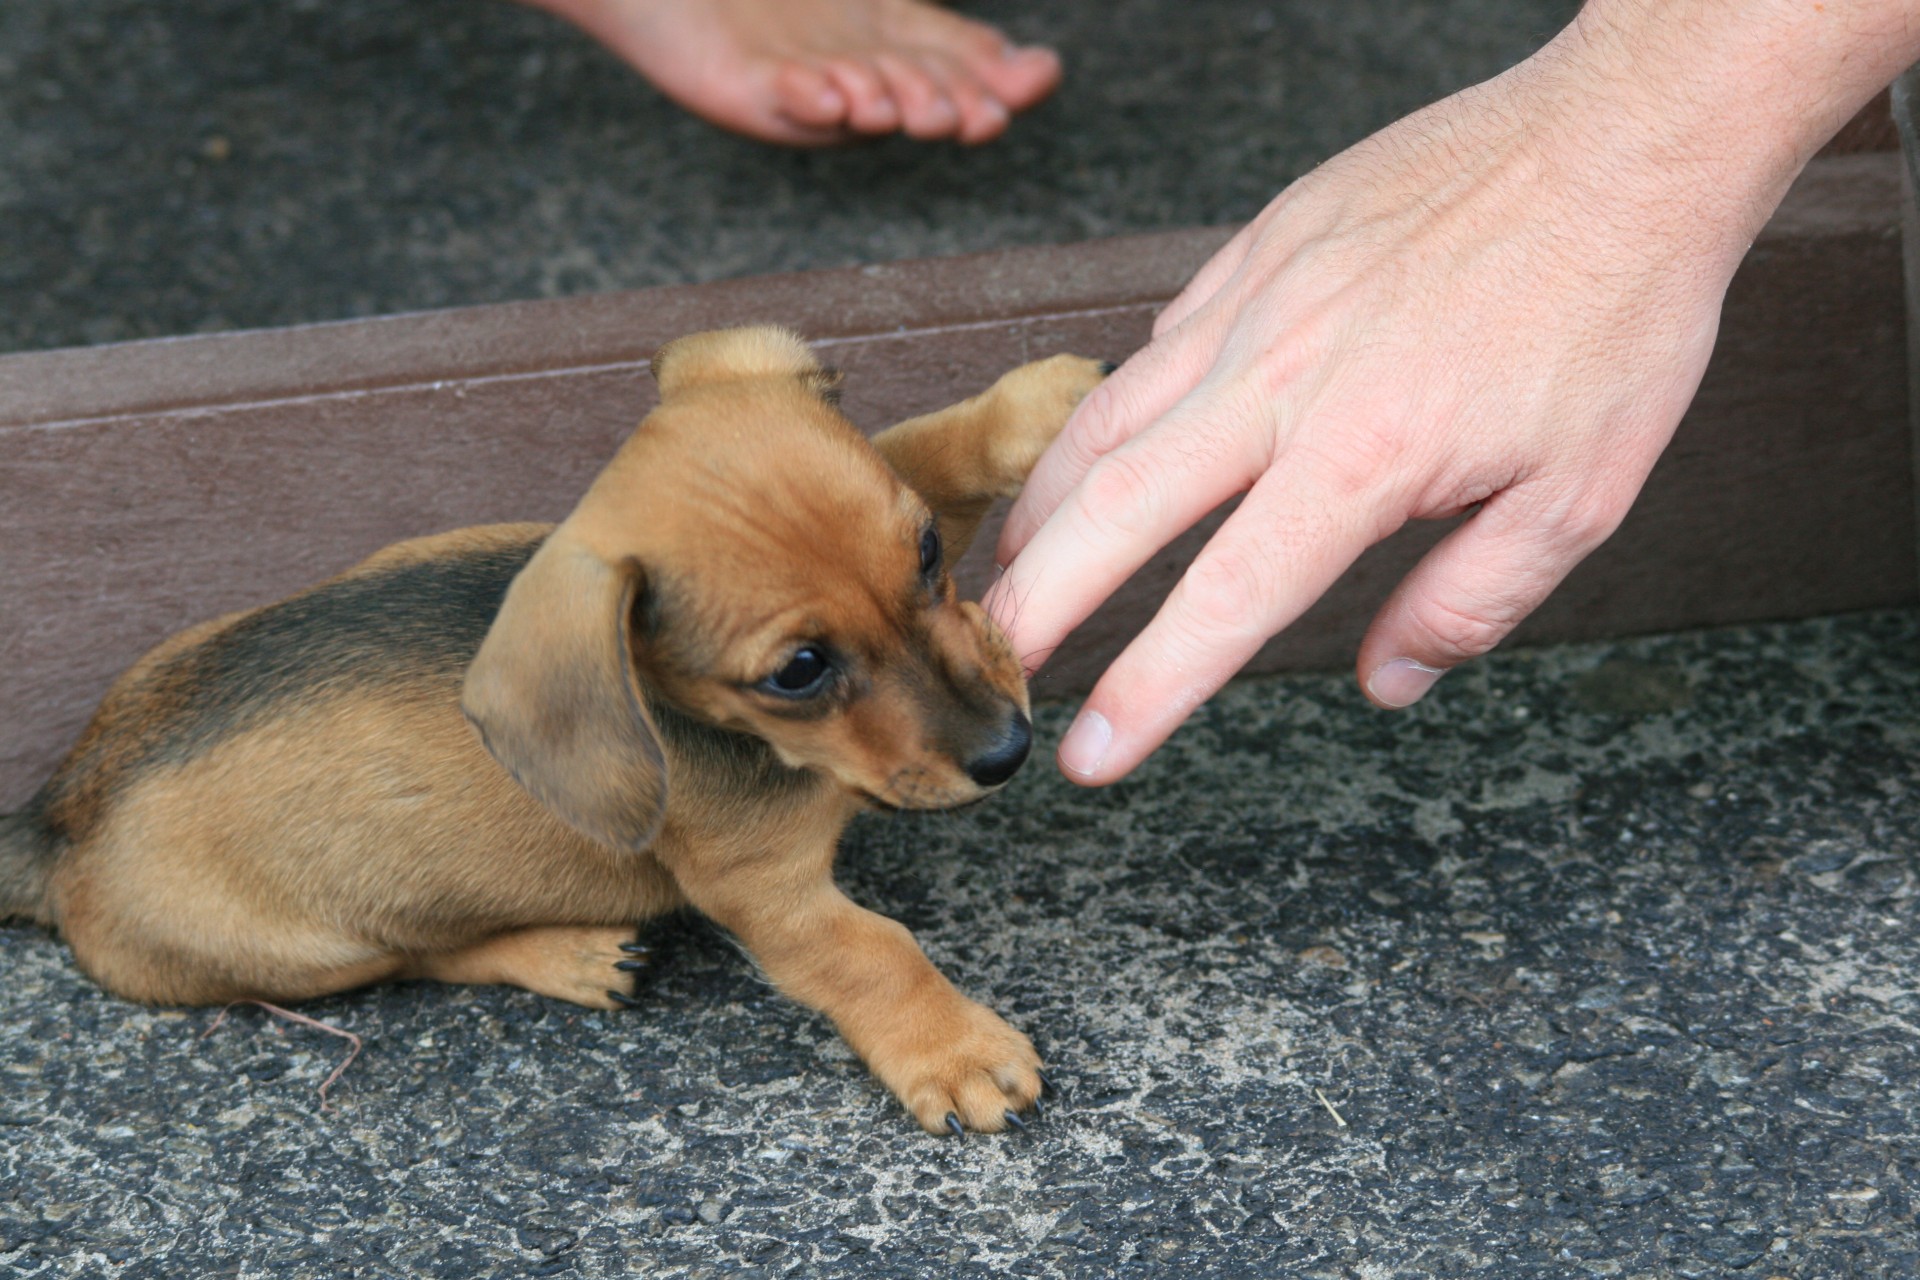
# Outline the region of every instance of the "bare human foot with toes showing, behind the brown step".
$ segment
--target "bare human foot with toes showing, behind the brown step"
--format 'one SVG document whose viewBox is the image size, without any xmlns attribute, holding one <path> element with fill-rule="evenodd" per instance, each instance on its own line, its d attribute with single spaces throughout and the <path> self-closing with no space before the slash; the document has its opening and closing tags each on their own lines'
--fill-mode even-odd
<svg viewBox="0 0 1920 1280">
<path fill-rule="evenodd" d="M 922 0 L 526 0 L 668 98 L 766 142 L 987 142 L 1050 94 L 1060 58 Z"/>
</svg>

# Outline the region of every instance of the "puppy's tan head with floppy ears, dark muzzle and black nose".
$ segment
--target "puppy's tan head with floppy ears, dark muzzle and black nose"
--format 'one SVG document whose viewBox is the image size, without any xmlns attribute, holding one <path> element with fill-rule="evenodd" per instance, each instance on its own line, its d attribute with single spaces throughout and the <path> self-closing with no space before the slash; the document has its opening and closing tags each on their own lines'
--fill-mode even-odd
<svg viewBox="0 0 1920 1280">
<path fill-rule="evenodd" d="M 490 750 L 603 841 L 653 839 L 647 695 L 897 808 L 1025 760 L 1020 664 L 954 597 L 933 512 L 783 330 L 684 338 L 660 407 L 515 580 L 467 677 Z"/>
</svg>

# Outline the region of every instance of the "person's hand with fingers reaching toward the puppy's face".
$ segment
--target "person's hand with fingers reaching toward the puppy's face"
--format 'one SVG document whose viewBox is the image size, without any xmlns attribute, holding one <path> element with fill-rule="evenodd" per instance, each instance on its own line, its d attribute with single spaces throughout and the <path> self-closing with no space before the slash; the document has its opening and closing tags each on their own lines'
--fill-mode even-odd
<svg viewBox="0 0 1920 1280">
<path fill-rule="evenodd" d="M 1500 643 L 1615 530 L 1805 161 L 1699 138 L 1724 159 L 1695 163 L 1686 121 L 1636 115 L 1617 84 L 1549 46 L 1344 152 L 1087 397 L 1014 507 L 987 595 L 1029 666 L 1244 499 L 1087 699 L 1060 747 L 1069 777 L 1131 771 L 1405 520 L 1473 512 L 1359 647 L 1380 706 Z"/>
</svg>

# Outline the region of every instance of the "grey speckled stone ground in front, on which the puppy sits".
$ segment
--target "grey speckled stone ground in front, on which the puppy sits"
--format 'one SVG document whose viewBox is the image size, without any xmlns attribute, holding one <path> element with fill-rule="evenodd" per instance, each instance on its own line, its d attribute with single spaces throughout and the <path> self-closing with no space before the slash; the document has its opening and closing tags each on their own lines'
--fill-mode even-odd
<svg viewBox="0 0 1920 1280">
<path fill-rule="evenodd" d="M 1058 739 L 1064 716 L 1043 716 Z M 1920 612 L 1250 681 L 843 879 L 1064 1098 L 924 1136 L 697 925 L 649 1007 L 152 1011 L 0 931 L 25 1276 L 1920 1274 Z"/>
</svg>

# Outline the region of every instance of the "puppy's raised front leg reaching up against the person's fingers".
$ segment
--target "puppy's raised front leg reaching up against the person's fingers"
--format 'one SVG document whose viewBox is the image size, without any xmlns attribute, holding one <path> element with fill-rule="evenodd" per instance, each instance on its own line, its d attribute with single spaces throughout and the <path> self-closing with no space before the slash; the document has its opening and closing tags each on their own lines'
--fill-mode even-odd
<svg viewBox="0 0 1920 1280">
<path fill-rule="evenodd" d="M 966 555 L 998 497 L 1020 493 L 1027 472 L 1112 365 L 1054 355 L 1021 365 L 958 405 L 908 418 L 874 438 L 887 464 L 941 522 L 947 562 Z"/>
</svg>

